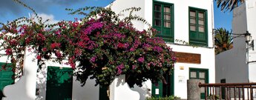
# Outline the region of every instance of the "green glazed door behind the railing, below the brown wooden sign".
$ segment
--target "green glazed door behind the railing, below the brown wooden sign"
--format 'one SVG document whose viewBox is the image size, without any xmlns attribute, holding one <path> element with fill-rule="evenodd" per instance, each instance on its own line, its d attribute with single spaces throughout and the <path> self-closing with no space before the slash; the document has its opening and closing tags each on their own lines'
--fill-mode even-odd
<svg viewBox="0 0 256 100">
<path fill-rule="evenodd" d="M 189 68 L 189 79 L 200 79 L 202 84 L 209 83 L 209 70 L 199 68 Z M 201 99 L 205 99 L 205 88 L 201 87 Z"/>
</svg>

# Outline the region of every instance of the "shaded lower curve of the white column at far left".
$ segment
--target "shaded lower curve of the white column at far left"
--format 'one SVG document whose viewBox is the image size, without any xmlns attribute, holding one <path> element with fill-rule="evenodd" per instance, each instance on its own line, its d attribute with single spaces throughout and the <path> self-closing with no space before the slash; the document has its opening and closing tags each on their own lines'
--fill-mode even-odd
<svg viewBox="0 0 256 100">
<path fill-rule="evenodd" d="M 4 87 L 3 94 L 6 97 L 2 100 L 33 100 L 29 93 L 30 90 L 27 90 L 28 87 L 31 87 L 29 84 L 30 79 L 27 76 L 30 76 L 30 73 L 24 70 L 24 76 L 17 83 Z"/>
</svg>

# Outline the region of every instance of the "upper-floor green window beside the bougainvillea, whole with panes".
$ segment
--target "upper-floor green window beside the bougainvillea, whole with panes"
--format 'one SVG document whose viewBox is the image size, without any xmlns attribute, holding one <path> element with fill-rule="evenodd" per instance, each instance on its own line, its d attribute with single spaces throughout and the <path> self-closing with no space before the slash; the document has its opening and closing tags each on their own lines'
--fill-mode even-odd
<svg viewBox="0 0 256 100">
<path fill-rule="evenodd" d="M 173 42 L 173 24 L 173 4 L 154 1 L 153 27 L 159 32 L 157 36 L 162 37 L 165 41 Z"/>
</svg>

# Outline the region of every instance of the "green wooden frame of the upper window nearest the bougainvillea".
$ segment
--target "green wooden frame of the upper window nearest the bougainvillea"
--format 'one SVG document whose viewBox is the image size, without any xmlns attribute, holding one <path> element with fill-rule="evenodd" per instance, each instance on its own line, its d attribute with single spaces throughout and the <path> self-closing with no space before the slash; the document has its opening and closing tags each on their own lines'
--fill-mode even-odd
<svg viewBox="0 0 256 100">
<path fill-rule="evenodd" d="M 156 26 L 155 25 L 155 10 L 154 10 L 154 5 L 155 4 L 160 4 L 161 5 L 161 18 L 160 18 L 160 21 L 161 21 L 161 26 Z M 168 6 L 170 7 L 170 13 L 171 14 L 171 19 L 170 19 L 170 26 L 171 27 L 164 27 L 165 24 L 165 19 L 164 19 L 164 15 L 165 15 L 165 12 L 164 12 L 164 7 L 165 6 Z M 156 30 L 170 30 L 170 34 L 168 34 L 168 36 L 166 35 L 161 35 L 161 32 L 160 33 L 157 33 L 157 37 L 161 37 L 163 38 L 164 41 L 168 41 L 168 42 L 174 42 L 174 4 L 171 4 L 171 3 L 167 3 L 167 2 L 163 2 L 163 1 L 155 1 L 153 0 L 153 4 L 152 4 L 152 26 L 156 29 Z"/>
</svg>

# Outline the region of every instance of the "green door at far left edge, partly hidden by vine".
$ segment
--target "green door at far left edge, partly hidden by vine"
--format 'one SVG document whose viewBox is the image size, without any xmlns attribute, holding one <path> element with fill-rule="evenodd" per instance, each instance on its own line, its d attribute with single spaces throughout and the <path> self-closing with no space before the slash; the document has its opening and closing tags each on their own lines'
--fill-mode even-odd
<svg viewBox="0 0 256 100">
<path fill-rule="evenodd" d="M 2 68 L 2 66 L 5 63 L 0 63 L 0 99 L 4 97 L 2 90 L 4 89 L 5 86 L 9 84 L 13 84 L 13 68 L 10 67 L 10 64 L 7 64 L 7 67 L 5 69 Z"/>
</svg>

